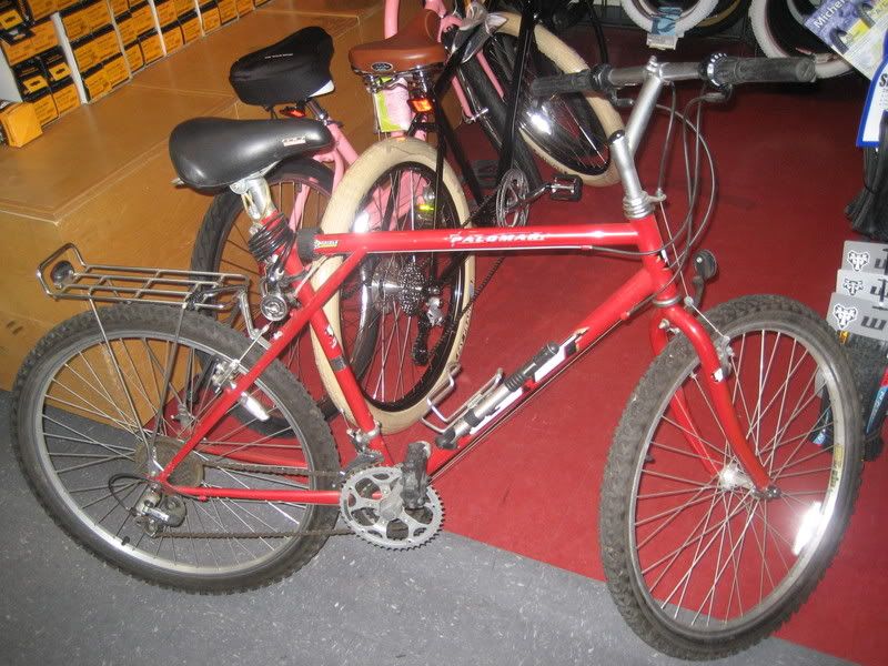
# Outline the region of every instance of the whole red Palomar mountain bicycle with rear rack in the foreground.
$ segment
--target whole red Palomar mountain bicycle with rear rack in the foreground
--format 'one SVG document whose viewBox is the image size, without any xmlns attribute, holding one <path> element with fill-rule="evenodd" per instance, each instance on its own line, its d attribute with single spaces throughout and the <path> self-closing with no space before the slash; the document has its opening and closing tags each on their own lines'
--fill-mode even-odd
<svg viewBox="0 0 888 666">
<path fill-rule="evenodd" d="M 248 337 L 191 311 L 222 306 L 214 299 L 222 293 L 245 303 L 238 275 L 90 265 L 62 249 L 39 269 L 46 290 L 92 307 L 50 332 L 16 383 L 13 442 L 32 488 L 57 523 L 104 561 L 188 591 L 280 579 L 342 532 L 387 548 L 420 546 L 442 525 L 436 475 L 649 305 L 658 355 L 629 398 L 602 483 L 608 587 L 627 623 L 662 652 L 702 659 L 748 647 L 801 605 L 836 552 L 861 472 L 859 401 L 833 333 L 807 307 L 747 296 L 705 314 L 696 309 L 698 294 L 687 294 L 680 278 L 696 234 L 682 248 L 680 233 L 664 236 L 633 153 L 664 85 L 704 79 L 724 90 L 810 77 L 808 61 L 722 57 L 537 81 L 543 95 L 643 84 L 626 131 L 610 138 L 626 213 L 610 224 L 462 226 L 464 194 L 446 163 L 438 168 L 426 143 L 384 141 L 346 173 L 323 226 L 360 228 L 363 215 L 376 215 L 383 229 L 404 216 L 408 230 L 304 230 L 278 239 L 272 250 L 284 259 L 281 278 L 294 305 L 269 342 L 262 331 Z M 226 134 L 229 159 L 221 160 L 193 149 L 220 145 L 205 128 L 175 134 L 180 175 L 194 185 L 226 179 L 256 222 L 253 238 L 271 243 L 280 216 L 268 213 L 261 170 L 316 150 L 325 138 L 306 132 L 296 141 L 279 123 L 253 123 Z M 505 212 L 515 215 L 529 195 L 509 192 Z M 440 218 L 457 224 L 436 228 Z M 324 304 L 364 270 L 376 309 L 426 330 L 421 344 L 404 346 L 377 344 L 387 333 L 375 329 L 374 349 L 447 359 L 442 350 L 460 344 L 468 316 L 467 307 L 451 306 L 472 290 L 461 276 L 465 253 L 564 250 L 619 251 L 640 268 L 451 415 L 441 403 L 456 366 L 423 364 L 440 372 L 430 380 L 425 418 L 433 441 L 415 442 L 395 460 Z M 713 265 L 707 254 L 694 263 L 699 286 Z M 100 310 L 100 300 L 128 303 Z M 442 317 L 447 323 L 428 325 Z M 350 420 L 354 458 L 344 467 L 317 407 L 276 361 L 305 329 Z M 272 433 L 252 427 L 271 420 L 283 425 Z"/>
</svg>

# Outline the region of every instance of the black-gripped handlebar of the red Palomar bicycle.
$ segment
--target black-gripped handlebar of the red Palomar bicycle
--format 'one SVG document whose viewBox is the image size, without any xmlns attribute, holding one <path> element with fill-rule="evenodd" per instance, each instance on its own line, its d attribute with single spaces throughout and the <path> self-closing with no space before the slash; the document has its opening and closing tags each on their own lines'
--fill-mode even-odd
<svg viewBox="0 0 888 666">
<path fill-rule="evenodd" d="M 573 74 L 541 77 L 531 83 L 533 97 L 551 97 L 572 92 L 610 92 L 617 88 L 639 85 L 648 77 L 660 81 L 700 79 L 718 88 L 738 83 L 808 83 L 817 78 L 809 58 L 735 58 L 715 54 L 702 62 L 656 61 L 640 67 L 614 68 L 598 64 Z"/>
</svg>

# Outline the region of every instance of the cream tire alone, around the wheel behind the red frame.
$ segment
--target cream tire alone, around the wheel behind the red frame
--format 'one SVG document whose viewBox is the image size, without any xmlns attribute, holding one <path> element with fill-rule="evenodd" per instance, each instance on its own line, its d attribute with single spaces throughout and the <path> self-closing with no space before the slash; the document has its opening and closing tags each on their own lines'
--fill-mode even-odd
<svg viewBox="0 0 888 666">
<path fill-rule="evenodd" d="M 360 212 L 362 202 L 375 183 L 386 172 L 396 168 L 398 164 L 420 164 L 434 172 L 436 164 L 436 151 L 433 147 L 416 139 L 387 139 L 380 143 L 375 143 L 367 149 L 361 158 L 349 169 L 340 185 L 333 192 L 330 200 L 326 214 L 322 223 L 325 233 L 345 233 L 347 232 L 355 218 Z M 455 214 L 458 218 L 460 224 L 463 224 L 468 218 L 468 204 L 466 203 L 465 195 L 463 194 L 462 186 L 460 185 L 456 174 L 451 169 L 447 162 L 444 163 L 443 185 L 446 193 L 453 201 Z M 382 232 L 384 233 L 384 232 Z M 319 270 L 312 278 L 312 284 L 317 289 L 323 284 L 326 279 L 335 271 L 342 263 L 340 258 L 331 258 L 320 264 Z M 460 290 L 457 302 L 453 303 L 451 307 L 455 307 L 456 312 L 465 309 L 470 302 L 473 292 L 473 284 L 475 278 L 475 260 L 474 256 L 467 255 L 461 269 L 462 289 Z M 343 347 L 347 349 L 347 344 L 343 343 L 343 331 L 341 326 L 341 307 L 340 307 L 340 292 L 333 295 L 324 306 L 330 325 L 333 327 Z M 462 352 L 465 343 L 465 337 L 468 333 L 468 320 L 471 312 L 466 312 L 456 322 L 455 331 L 452 332 L 452 337 L 448 341 L 446 353 L 444 354 L 443 363 L 441 363 L 441 372 L 434 381 L 427 381 L 426 387 L 422 394 L 414 394 L 411 398 L 411 404 L 398 406 L 394 408 L 382 407 L 369 401 L 369 408 L 373 417 L 379 422 L 382 432 L 394 433 L 413 425 L 422 415 L 424 415 L 428 407 L 425 398 L 437 392 L 447 381 L 446 369 L 455 363 L 460 353 Z M 340 386 L 336 382 L 333 370 L 326 360 L 320 343 L 312 333 L 312 345 L 314 349 L 315 362 L 321 375 L 321 381 L 327 392 L 327 395 L 334 402 L 336 407 L 342 412 L 345 417 L 354 423 L 354 418 L 349 410 Z"/>
</svg>

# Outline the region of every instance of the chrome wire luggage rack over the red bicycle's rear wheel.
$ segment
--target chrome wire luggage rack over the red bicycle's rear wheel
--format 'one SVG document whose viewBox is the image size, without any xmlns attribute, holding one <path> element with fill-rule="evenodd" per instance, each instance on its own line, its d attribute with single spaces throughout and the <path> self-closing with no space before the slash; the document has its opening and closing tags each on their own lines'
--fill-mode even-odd
<svg viewBox="0 0 888 666">
<path fill-rule="evenodd" d="M 37 279 L 46 294 L 56 300 L 157 303 L 214 311 L 231 310 L 250 287 L 250 279 L 239 273 L 90 264 L 73 243 L 44 259 L 37 268 Z M 233 297 L 220 300 L 222 295 Z"/>
</svg>

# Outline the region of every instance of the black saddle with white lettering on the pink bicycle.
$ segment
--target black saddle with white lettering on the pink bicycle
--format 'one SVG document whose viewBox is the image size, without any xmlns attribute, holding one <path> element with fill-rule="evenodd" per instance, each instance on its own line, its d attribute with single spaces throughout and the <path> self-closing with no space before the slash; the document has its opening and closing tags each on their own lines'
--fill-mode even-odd
<svg viewBox="0 0 888 666">
<path fill-rule="evenodd" d="M 303 28 L 231 65 L 229 81 L 245 104 L 305 102 L 333 90 L 333 40 L 323 28 Z"/>
</svg>

